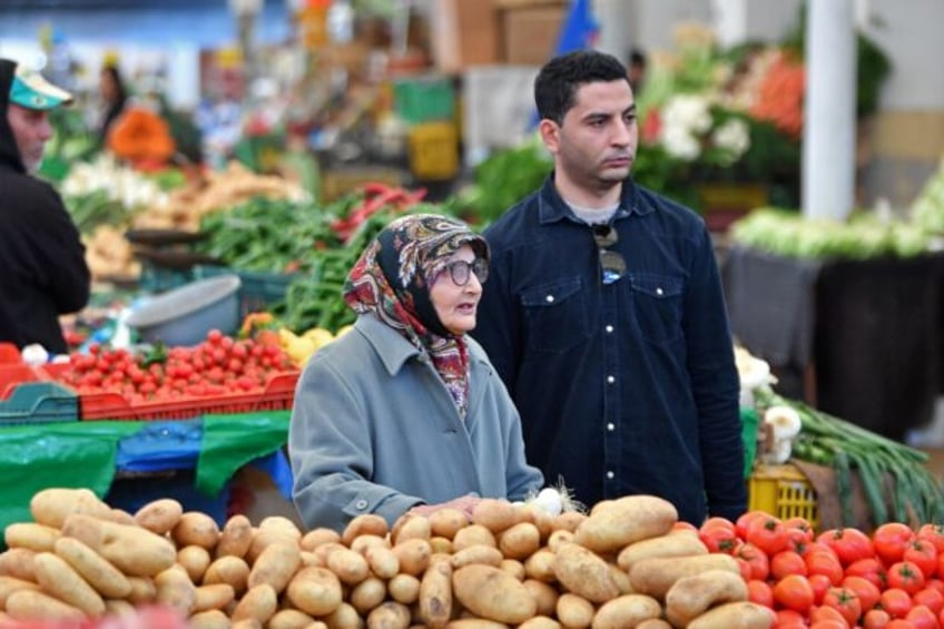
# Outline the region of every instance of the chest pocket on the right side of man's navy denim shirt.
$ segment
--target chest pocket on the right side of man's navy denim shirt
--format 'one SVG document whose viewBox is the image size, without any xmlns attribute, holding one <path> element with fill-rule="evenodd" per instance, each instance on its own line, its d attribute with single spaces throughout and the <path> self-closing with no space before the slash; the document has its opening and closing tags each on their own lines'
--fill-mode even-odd
<svg viewBox="0 0 944 629">
<path fill-rule="evenodd" d="M 681 337 L 682 279 L 655 273 L 633 274 L 631 286 L 632 314 L 639 334 L 652 343 Z"/>
</svg>

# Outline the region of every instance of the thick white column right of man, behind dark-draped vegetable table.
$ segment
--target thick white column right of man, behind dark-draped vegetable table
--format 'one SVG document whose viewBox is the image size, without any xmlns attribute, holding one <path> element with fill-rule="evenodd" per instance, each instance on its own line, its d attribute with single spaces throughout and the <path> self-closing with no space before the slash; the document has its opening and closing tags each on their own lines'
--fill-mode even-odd
<svg viewBox="0 0 944 629">
<path fill-rule="evenodd" d="M 803 214 L 844 219 L 855 204 L 854 0 L 810 0 L 807 10 Z"/>
</svg>

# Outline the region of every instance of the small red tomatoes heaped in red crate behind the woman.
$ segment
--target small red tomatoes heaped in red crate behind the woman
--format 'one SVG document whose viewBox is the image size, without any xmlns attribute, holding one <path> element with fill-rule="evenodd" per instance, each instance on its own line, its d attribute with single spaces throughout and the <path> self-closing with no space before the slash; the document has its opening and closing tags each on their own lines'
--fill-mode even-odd
<svg viewBox="0 0 944 629">
<path fill-rule="evenodd" d="M 119 393 L 135 403 L 259 392 L 274 375 L 294 370 L 277 342 L 236 340 L 213 330 L 191 347 L 158 345 L 135 353 L 92 345 L 86 354 L 71 354 L 58 377 L 79 394 Z"/>
</svg>

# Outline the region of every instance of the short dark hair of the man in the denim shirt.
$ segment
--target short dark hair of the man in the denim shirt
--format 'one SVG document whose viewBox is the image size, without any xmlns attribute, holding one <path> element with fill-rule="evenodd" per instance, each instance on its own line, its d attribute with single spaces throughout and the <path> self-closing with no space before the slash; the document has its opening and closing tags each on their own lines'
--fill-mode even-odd
<svg viewBox="0 0 944 629">
<path fill-rule="evenodd" d="M 538 106 L 538 115 L 560 125 L 568 110 L 573 107 L 580 86 L 620 79 L 629 82 L 626 66 L 612 55 L 597 50 L 577 50 L 554 57 L 544 63 L 534 79 L 534 105 Z"/>
</svg>

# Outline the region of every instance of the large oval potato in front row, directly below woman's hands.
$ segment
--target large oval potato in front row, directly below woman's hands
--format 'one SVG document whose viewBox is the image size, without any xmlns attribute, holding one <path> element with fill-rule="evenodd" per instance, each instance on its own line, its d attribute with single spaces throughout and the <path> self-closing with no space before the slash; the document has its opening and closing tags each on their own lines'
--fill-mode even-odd
<svg viewBox="0 0 944 629">
<path fill-rule="evenodd" d="M 537 601 L 521 581 L 491 566 L 472 564 L 455 570 L 452 589 L 465 609 L 488 620 L 519 625 L 538 610 Z"/>
</svg>

